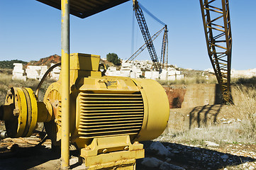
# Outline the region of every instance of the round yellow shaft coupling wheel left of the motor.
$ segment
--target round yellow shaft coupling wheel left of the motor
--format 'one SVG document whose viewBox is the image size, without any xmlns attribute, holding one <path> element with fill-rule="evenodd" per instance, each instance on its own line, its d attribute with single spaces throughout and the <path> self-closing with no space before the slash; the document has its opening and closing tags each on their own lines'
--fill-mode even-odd
<svg viewBox="0 0 256 170">
<path fill-rule="evenodd" d="M 29 137 L 38 120 L 38 105 L 33 90 L 13 87 L 8 91 L 5 105 L 13 106 L 10 120 L 6 120 L 9 137 Z"/>
</svg>

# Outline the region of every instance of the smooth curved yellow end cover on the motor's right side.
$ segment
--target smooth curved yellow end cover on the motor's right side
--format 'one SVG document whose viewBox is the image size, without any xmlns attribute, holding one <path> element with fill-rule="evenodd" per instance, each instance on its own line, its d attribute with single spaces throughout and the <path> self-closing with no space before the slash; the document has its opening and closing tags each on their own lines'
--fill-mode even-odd
<svg viewBox="0 0 256 170">
<path fill-rule="evenodd" d="M 144 119 L 135 140 L 152 140 L 165 130 L 169 119 L 169 101 L 165 90 L 152 79 L 133 79 L 143 96 Z"/>
</svg>

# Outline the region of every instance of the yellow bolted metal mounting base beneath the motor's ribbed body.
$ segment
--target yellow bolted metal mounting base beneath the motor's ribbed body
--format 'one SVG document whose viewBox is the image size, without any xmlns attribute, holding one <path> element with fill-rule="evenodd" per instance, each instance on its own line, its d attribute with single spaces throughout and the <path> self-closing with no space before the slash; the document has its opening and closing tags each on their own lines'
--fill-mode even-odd
<svg viewBox="0 0 256 170">
<path fill-rule="evenodd" d="M 89 169 L 135 169 L 135 159 L 144 157 L 144 149 L 139 142 L 132 145 L 129 135 L 100 137 L 81 149 L 81 157 Z"/>
</svg>

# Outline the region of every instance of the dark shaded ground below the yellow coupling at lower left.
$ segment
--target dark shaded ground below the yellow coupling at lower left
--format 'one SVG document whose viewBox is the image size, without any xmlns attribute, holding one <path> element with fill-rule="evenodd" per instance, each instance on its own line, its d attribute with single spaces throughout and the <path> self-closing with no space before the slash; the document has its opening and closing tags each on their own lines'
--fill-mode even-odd
<svg viewBox="0 0 256 170">
<path fill-rule="evenodd" d="M 77 151 L 70 151 L 70 156 L 78 156 Z M 44 164 L 48 162 L 47 164 Z M 42 165 L 43 164 L 43 165 Z M 40 166 L 41 165 L 41 166 Z M 35 168 L 37 166 L 37 168 Z M 73 165 L 74 167 L 77 165 Z M 60 169 L 60 150 L 44 146 L 1 148 L 0 169 Z"/>
</svg>

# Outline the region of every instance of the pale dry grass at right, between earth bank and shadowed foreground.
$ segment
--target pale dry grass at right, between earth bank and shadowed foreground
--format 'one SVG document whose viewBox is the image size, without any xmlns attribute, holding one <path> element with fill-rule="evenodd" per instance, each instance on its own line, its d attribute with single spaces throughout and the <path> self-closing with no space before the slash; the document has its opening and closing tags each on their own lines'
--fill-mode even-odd
<svg viewBox="0 0 256 170">
<path fill-rule="evenodd" d="M 219 124 L 205 128 L 194 128 L 184 132 L 169 130 L 157 140 L 179 141 L 194 145 L 203 145 L 204 141 L 225 143 L 255 143 L 256 140 L 256 89 L 255 87 L 236 86 L 240 101 L 232 106 L 230 112 L 238 112 L 241 122 L 233 124 Z"/>
</svg>

